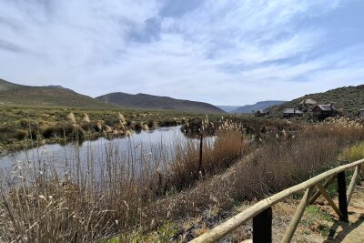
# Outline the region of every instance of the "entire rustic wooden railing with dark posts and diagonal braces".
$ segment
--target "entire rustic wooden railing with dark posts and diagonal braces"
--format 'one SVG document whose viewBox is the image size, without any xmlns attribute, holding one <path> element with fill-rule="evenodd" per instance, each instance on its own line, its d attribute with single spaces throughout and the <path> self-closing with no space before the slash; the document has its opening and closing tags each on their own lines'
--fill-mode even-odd
<svg viewBox="0 0 364 243">
<path fill-rule="evenodd" d="M 198 242 L 217 242 L 228 233 L 238 228 L 249 219 L 253 219 L 253 242 L 271 242 L 272 241 L 272 206 L 285 198 L 290 197 L 300 191 L 305 191 L 301 202 L 298 205 L 295 216 L 292 218 L 284 237 L 281 242 L 290 242 L 298 223 L 302 218 L 305 208 L 313 203 L 320 195 L 325 197 L 329 206 L 331 206 L 338 214 L 339 219 L 348 222 L 348 205 L 354 191 L 356 181 L 360 174 L 360 166 L 364 163 L 364 159 L 360 159 L 348 165 L 330 169 L 327 172 L 320 174 L 317 177 L 312 177 L 305 182 L 302 182 L 294 187 L 289 187 L 272 197 L 265 198 L 252 207 L 244 210 L 233 218 L 229 218 L 226 222 L 220 224 L 216 228 L 212 228 L 205 234 L 190 241 L 190 243 Z M 354 168 L 354 174 L 351 178 L 348 191 L 346 188 L 345 171 Z M 339 208 L 334 201 L 329 197 L 327 187 L 338 179 L 339 193 Z M 323 182 L 323 183 L 322 183 Z"/>
</svg>

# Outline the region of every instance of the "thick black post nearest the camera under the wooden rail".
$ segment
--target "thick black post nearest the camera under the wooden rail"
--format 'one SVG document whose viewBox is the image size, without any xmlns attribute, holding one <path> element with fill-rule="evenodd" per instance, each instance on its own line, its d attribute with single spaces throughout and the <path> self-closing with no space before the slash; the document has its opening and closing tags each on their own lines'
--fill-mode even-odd
<svg viewBox="0 0 364 243">
<path fill-rule="evenodd" d="M 253 218 L 253 243 L 272 242 L 272 208 Z"/>
</svg>

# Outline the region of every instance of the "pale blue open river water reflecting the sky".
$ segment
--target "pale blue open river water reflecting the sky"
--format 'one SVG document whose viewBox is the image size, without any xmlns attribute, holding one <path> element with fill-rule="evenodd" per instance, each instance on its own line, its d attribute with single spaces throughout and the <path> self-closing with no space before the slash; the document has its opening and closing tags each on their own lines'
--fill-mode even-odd
<svg viewBox="0 0 364 243">
<path fill-rule="evenodd" d="M 213 137 L 207 140 L 213 142 Z M 118 137 L 108 140 L 104 137 L 94 141 L 84 141 L 81 145 L 58 144 L 45 145 L 8 153 L 0 157 L 0 168 L 10 172 L 16 166 L 22 167 L 52 167 L 56 171 L 72 171 L 72 167 L 80 166 L 93 170 L 99 174 L 100 169 L 108 162 L 107 157 L 126 167 L 133 163 L 136 170 L 142 163 L 157 164 L 163 167 L 166 159 L 173 159 L 174 147 L 177 144 L 186 144 L 187 140 L 193 140 L 198 145 L 197 139 L 185 137 L 180 127 L 160 127 L 154 131 L 141 131 L 133 133 L 130 137 Z M 164 161 L 161 161 L 164 158 Z"/>
</svg>

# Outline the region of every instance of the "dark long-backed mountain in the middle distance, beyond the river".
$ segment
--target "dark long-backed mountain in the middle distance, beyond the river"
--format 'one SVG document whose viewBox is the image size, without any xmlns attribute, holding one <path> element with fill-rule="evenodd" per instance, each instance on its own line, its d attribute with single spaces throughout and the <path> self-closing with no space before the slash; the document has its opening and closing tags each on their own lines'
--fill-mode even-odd
<svg viewBox="0 0 364 243">
<path fill-rule="evenodd" d="M 175 99 L 167 96 L 151 96 L 147 94 L 130 95 L 126 93 L 110 93 L 96 99 L 124 106 L 127 108 L 175 110 L 193 113 L 225 113 L 217 106 L 204 102 Z"/>
</svg>

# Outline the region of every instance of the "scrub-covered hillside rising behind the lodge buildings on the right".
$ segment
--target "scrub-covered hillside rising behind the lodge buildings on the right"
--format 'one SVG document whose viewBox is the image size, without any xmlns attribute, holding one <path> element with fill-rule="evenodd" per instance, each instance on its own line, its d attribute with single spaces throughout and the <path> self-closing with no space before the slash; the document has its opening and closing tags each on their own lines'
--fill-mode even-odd
<svg viewBox="0 0 364 243">
<path fill-rule="evenodd" d="M 284 108 L 297 107 L 299 102 L 313 99 L 317 104 L 333 104 L 343 116 L 356 116 L 360 108 L 364 108 L 364 85 L 344 86 L 326 92 L 301 96 L 292 101 L 269 108 L 270 114 L 281 114 Z"/>
</svg>

